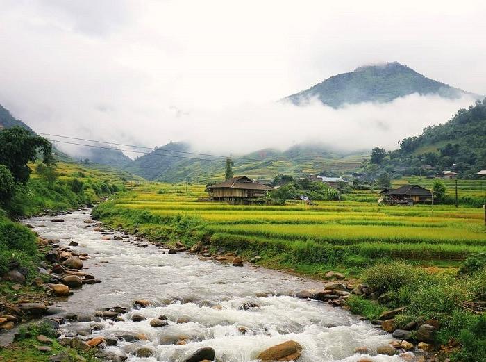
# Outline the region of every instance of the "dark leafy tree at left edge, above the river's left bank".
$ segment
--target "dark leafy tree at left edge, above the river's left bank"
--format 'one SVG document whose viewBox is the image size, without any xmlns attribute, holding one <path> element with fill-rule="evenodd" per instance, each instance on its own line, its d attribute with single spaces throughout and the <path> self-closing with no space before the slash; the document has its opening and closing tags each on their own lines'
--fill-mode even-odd
<svg viewBox="0 0 486 362">
<path fill-rule="evenodd" d="M 53 161 L 49 140 L 19 126 L 0 131 L 0 165 L 8 167 L 15 182 L 27 182 L 32 172 L 27 163 L 37 161 L 37 151 L 44 163 Z"/>
</svg>

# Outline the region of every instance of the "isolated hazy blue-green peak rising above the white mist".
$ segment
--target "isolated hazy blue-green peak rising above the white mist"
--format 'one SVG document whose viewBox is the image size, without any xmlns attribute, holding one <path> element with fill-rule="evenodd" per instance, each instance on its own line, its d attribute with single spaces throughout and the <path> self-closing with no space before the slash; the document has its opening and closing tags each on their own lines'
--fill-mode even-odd
<svg viewBox="0 0 486 362">
<path fill-rule="evenodd" d="M 434 81 L 398 62 L 366 65 L 353 72 L 331 76 L 307 90 L 292 94 L 285 99 L 296 105 L 317 98 L 323 104 L 337 108 L 344 104 L 362 102 L 388 102 L 408 94 L 435 94 L 455 99 L 464 94 L 479 98 L 450 85 Z"/>
</svg>

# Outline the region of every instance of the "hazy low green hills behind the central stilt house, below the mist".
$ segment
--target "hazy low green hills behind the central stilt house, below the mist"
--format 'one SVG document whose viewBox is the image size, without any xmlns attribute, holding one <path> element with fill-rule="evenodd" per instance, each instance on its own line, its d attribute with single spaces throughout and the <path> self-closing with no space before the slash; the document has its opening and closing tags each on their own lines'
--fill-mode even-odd
<svg viewBox="0 0 486 362">
<path fill-rule="evenodd" d="M 186 143 L 171 142 L 135 159 L 125 170 L 146 179 L 168 182 L 212 181 L 224 177 L 225 157 L 185 153 L 190 150 Z M 233 172 L 267 180 L 277 174 L 298 176 L 323 170 L 342 174 L 356 170 L 366 156 L 333 154 L 319 145 L 296 145 L 286 151 L 262 149 L 234 157 Z"/>
</svg>

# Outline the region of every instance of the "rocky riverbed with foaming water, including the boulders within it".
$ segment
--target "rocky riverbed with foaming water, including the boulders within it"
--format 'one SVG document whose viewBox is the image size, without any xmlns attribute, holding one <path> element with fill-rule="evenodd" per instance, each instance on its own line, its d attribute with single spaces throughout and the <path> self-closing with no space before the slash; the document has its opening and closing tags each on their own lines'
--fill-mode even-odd
<svg viewBox="0 0 486 362">
<path fill-rule="evenodd" d="M 56 240 L 53 249 L 70 253 L 53 256 L 47 272 L 59 279 L 47 293 L 62 293 L 55 285 L 81 288 L 49 307 L 62 344 L 96 348 L 108 361 L 417 360 L 401 339 L 332 305 L 349 295 L 345 283 L 258 268 L 202 247 L 153 245 L 103 229 L 86 211 L 62 220 L 26 220 L 44 240 Z M 85 259 L 81 268 L 72 258 Z"/>
</svg>

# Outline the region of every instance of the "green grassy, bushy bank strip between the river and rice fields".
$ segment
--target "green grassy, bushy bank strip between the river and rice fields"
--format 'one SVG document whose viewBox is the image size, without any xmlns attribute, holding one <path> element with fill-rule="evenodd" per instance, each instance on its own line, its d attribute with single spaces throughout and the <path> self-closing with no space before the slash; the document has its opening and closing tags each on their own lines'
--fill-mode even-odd
<svg viewBox="0 0 486 362">
<path fill-rule="evenodd" d="M 149 195 L 143 197 L 149 200 Z M 479 314 L 465 308 L 470 295 L 478 300 L 483 295 L 480 281 L 483 280 L 485 261 L 474 261 L 474 256 L 473 261 L 468 259 L 464 265 L 472 263 L 477 268 L 460 275 L 457 274 L 457 267 L 462 264 L 447 260 L 440 263 L 454 265 L 456 268 L 437 268 L 430 263 L 421 265 L 416 261 L 400 263 L 386 259 L 370 260 L 368 265 L 357 267 L 353 266 L 352 261 L 356 258 L 358 264 L 355 265 L 360 265 L 362 260 L 359 256 L 351 253 L 335 258 L 335 248 L 326 243 L 319 245 L 303 240 L 289 242 L 215 233 L 206 228 L 207 223 L 197 215 L 159 215 L 156 212 L 131 208 L 131 202 L 133 201 L 124 198 L 116 203 L 101 205 L 95 209 L 94 216 L 112 227 L 120 227 L 156 242 L 173 242 L 175 245 L 178 241 L 183 244 L 182 247 L 188 249 L 201 245 L 208 254 L 204 258 L 220 258 L 226 252 L 234 252 L 257 265 L 297 274 L 310 274 L 320 279 L 324 279 L 330 270 L 341 272 L 351 279 L 351 285 L 355 286 L 360 280 L 365 284 L 360 290 L 355 290 L 356 295 L 346 302 L 353 313 L 364 315 L 370 320 L 378 320 L 383 311 L 398 310 L 400 313 L 394 318 L 390 315 L 389 319 L 380 321 L 387 322 L 385 330 L 398 330 L 397 336 L 406 336 L 413 343 L 427 343 L 421 347 L 428 350 L 434 348 L 441 359 L 450 356 L 455 361 L 480 361 L 486 356 L 486 336 L 480 327 L 483 319 Z M 168 206 L 174 210 L 176 204 Z M 234 220 L 234 215 L 231 217 Z M 262 224 L 259 227 L 265 230 L 266 226 Z M 344 260 L 346 263 L 342 263 Z M 362 290 L 365 293 L 361 293 Z M 428 328 L 429 334 L 424 340 L 419 340 L 416 336 L 424 324 L 426 327 L 422 329 Z"/>
</svg>

